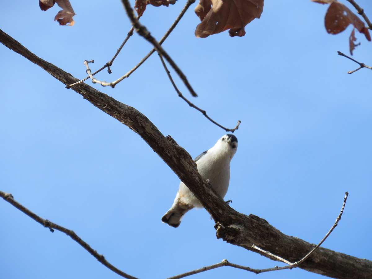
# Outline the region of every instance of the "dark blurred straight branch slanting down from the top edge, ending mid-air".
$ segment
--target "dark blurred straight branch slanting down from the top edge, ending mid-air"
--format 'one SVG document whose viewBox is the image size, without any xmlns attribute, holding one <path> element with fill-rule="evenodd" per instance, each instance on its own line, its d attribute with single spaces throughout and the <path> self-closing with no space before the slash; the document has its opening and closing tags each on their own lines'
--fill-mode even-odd
<svg viewBox="0 0 372 279">
<path fill-rule="evenodd" d="M 187 89 L 189 89 L 192 96 L 196 97 L 198 96 L 195 91 L 192 89 L 189 81 L 187 81 L 186 76 L 183 74 L 183 72 L 180 70 L 180 68 L 174 63 L 174 61 L 170 58 L 170 56 L 167 54 L 167 52 L 161 47 L 161 45 L 155 40 L 153 36 L 151 36 L 150 32 L 146 29 L 145 26 L 143 26 L 137 19 L 137 17 L 134 15 L 134 11 L 129 4 L 128 0 L 122 0 L 122 3 L 124 5 L 125 11 L 129 17 L 129 19 L 132 22 L 132 25 L 136 29 L 136 32 L 140 34 L 142 37 L 144 37 L 148 42 L 150 42 L 157 52 L 159 52 L 161 55 L 165 57 L 165 59 L 168 61 L 168 63 L 172 66 L 174 71 L 178 74 L 178 76 L 181 78 Z M 115 86 L 115 82 L 112 83 L 113 86 Z"/>
</svg>

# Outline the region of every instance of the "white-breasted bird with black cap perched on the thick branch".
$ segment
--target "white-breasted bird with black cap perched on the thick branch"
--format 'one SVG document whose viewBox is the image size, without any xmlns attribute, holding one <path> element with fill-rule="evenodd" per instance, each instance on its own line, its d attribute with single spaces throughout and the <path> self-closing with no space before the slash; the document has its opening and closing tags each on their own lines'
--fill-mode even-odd
<svg viewBox="0 0 372 279">
<path fill-rule="evenodd" d="M 221 137 L 216 144 L 197 156 L 194 161 L 201 176 L 211 183 L 212 188 L 222 198 L 230 183 L 230 161 L 238 148 L 238 139 L 232 134 Z M 161 218 L 163 223 L 177 228 L 183 215 L 192 208 L 202 205 L 189 188 L 181 181 L 173 205 Z"/>
</svg>

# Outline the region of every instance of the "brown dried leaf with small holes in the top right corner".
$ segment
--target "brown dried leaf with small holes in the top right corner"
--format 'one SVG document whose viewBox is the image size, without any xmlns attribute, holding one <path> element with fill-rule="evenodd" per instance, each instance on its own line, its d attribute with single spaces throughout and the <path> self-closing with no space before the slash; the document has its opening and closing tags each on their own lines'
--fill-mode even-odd
<svg viewBox="0 0 372 279">
<path fill-rule="evenodd" d="M 353 31 L 349 38 L 350 54 L 353 55 L 353 50 L 356 45 L 355 28 L 366 36 L 368 41 L 371 41 L 371 35 L 368 28 L 364 25 L 363 21 L 355 15 L 348 7 L 337 0 L 312 0 L 317 3 L 330 4 L 327 13 L 325 14 L 324 23 L 325 29 L 330 34 L 338 34 L 344 31 L 349 24 L 354 26 Z"/>
</svg>

